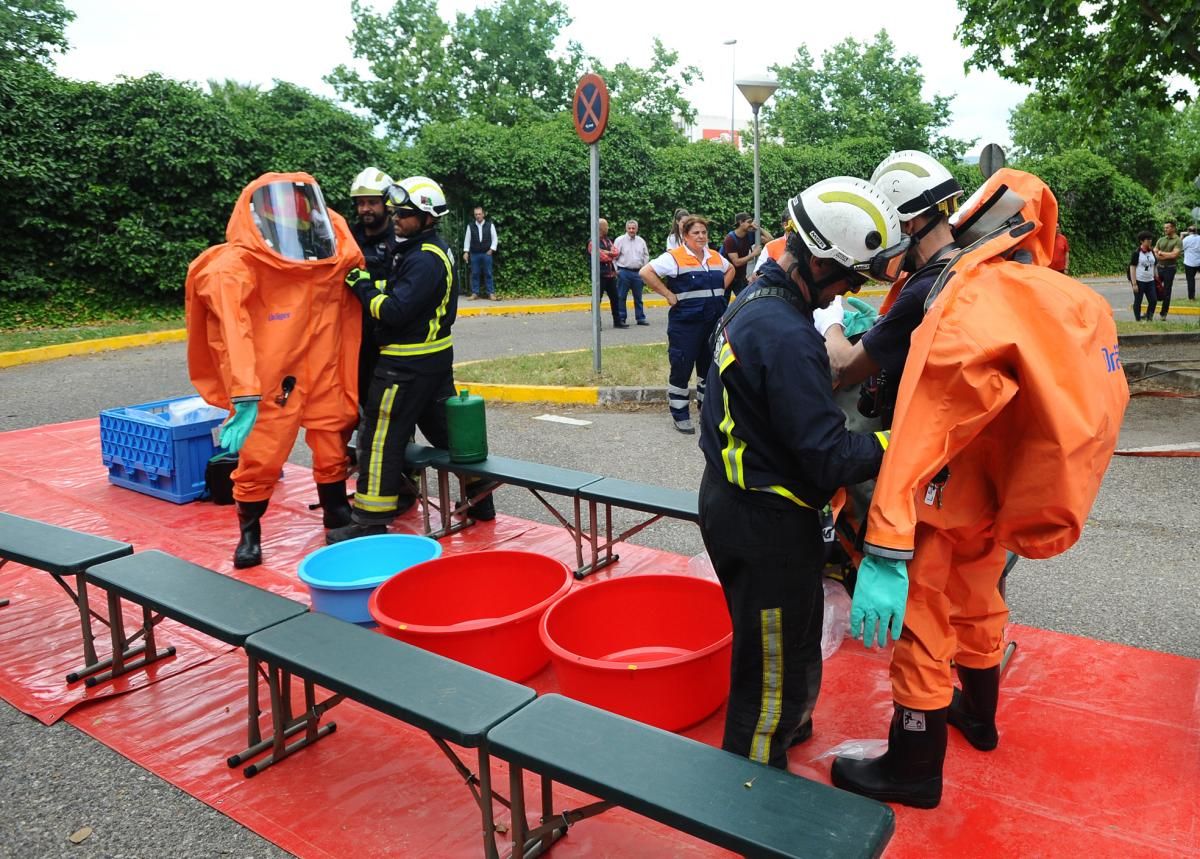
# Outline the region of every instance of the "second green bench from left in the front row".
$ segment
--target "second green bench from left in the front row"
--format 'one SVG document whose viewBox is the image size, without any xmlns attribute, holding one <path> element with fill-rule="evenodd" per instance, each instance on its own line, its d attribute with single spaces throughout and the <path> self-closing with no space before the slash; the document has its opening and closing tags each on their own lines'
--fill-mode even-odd
<svg viewBox="0 0 1200 859">
<path fill-rule="evenodd" d="M 89 686 L 174 655 L 173 647 L 158 650 L 155 644 L 155 626 L 163 618 L 226 644 L 242 647 L 254 632 L 308 612 L 308 606 L 302 602 L 156 549 L 97 564 L 84 575 L 89 584 L 108 591 L 108 627 L 113 639 L 112 669 L 89 677 Z M 142 659 L 138 660 L 130 660 L 127 647 L 131 637 L 125 632 L 121 617 L 122 599 L 142 607 L 142 626 L 132 636 L 144 641 L 144 647 L 139 648 Z M 265 747 L 259 731 L 262 709 L 256 666 L 252 660 L 248 665 L 247 752 Z"/>
</svg>

